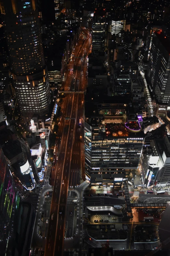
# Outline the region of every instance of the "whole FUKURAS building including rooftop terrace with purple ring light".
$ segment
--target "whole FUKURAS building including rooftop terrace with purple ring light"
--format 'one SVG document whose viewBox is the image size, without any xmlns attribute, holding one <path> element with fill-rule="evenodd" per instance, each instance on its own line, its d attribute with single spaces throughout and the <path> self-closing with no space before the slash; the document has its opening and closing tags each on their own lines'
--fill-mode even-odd
<svg viewBox="0 0 170 256">
<path fill-rule="evenodd" d="M 144 141 L 137 116 L 130 109 L 127 111 L 127 105 L 120 97 L 117 100 L 114 97 L 110 103 L 103 100 L 102 104 L 88 102 L 88 105 L 85 113 L 87 174 L 116 172 L 133 175 Z"/>
</svg>

